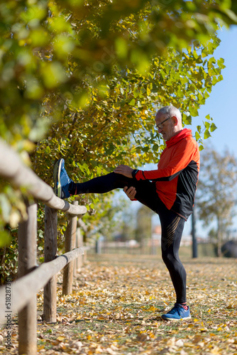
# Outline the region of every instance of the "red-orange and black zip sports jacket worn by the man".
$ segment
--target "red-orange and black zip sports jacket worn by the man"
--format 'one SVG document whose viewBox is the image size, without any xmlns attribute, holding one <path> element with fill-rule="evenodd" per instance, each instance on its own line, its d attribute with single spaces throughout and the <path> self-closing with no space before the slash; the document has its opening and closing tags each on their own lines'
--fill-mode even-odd
<svg viewBox="0 0 237 355">
<path fill-rule="evenodd" d="M 136 180 L 155 181 L 156 191 L 167 209 L 184 219 L 192 214 L 199 175 L 199 146 L 191 129 L 182 129 L 166 142 L 157 170 L 133 170 Z"/>
</svg>

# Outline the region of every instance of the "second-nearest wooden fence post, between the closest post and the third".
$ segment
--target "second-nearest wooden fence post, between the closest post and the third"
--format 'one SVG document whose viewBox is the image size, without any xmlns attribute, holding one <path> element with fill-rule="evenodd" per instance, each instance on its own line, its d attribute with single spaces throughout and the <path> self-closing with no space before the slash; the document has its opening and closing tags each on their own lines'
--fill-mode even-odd
<svg viewBox="0 0 237 355">
<path fill-rule="evenodd" d="M 45 263 L 57 256 L 57 209 L 45 205 Z M 57 315 L 57 275 L 44 288 L 43 320 L 56 322 Z"/>
</svg>

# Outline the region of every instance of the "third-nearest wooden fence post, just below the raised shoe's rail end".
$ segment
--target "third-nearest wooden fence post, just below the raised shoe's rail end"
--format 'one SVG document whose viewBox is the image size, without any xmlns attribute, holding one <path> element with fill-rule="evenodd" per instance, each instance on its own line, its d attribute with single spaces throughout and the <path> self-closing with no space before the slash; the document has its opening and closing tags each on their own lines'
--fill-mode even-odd
<svg viewBox="0 0 237 355">
<path fill-rule="evenodd" d="M 72 204 L 78 204 L 73 201 Z M 68 216 L 67 229 L 65 233 L 65 252 L 75 248 L 75 239 L 77 231 L 77 216 Z M 72 293 L 73 282 L 73 266 L 74 262 L 68 263 L 63 270 L 62 295 L 70 295 Z"/>
</svg>

